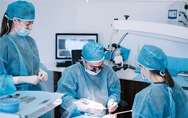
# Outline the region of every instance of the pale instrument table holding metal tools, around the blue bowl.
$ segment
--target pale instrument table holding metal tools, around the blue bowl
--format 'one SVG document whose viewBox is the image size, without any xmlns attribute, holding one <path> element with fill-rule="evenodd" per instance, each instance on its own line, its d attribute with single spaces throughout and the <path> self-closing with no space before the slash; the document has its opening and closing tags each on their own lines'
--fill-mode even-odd
<svg viewBox="0 0 188 118">
<path fill-rule="evenodd" d="M 17 91 L 21 103 L 19 111 L 14 114 L 0 112 L 1 118 L 37 118 L 62 103 L 61 93 L 51 93 L 45 91 Z M 4 98 L 7 95 L 1 96 Z"/>
</svg>

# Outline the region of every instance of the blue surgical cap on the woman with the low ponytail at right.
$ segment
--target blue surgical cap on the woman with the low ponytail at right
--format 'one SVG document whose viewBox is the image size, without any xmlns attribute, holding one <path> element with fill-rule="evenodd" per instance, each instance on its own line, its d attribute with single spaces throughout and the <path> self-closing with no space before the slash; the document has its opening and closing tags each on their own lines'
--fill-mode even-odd
<svg viewBox="0 0 188 118">
<path fill-rule="evenodd" d="M 167 56 L 162 49 L 153 45 L 144 45 L 138 55 L 138 63 L 149 70 L 165 72 Z"/>
</svg>

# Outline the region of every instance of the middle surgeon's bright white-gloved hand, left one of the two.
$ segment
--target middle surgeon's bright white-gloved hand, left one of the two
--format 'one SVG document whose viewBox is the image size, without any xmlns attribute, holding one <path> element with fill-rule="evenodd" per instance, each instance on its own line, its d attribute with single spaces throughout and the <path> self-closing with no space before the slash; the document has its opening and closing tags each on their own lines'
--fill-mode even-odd
<svg viewBox="0 0 188 118">
<path fill-rule="evenodd" d="M 106 108 L 98 102 L 89 99 L 80 99 L 78 100 L 77 109 L 82 112 L 100 115 Z"/>
</svg>

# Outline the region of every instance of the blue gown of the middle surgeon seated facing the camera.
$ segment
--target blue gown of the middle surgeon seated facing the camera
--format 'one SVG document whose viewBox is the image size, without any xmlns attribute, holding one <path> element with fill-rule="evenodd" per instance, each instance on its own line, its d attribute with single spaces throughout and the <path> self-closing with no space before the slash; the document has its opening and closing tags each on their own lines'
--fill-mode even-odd
<svg viewBox="0 0 188 118">
<path fill-rule="evenodd" d="M 120 80 L 113 69 L 107 65 L 104 65 L 97 75 L 90 75 L 79 63 L 63 71 L 58 81 L 57 92 L 64 94 L 61 107 L 69 112 L 69 117 L 87 115 L 76 109 L 77 100 L 86 98 L 104 106 L 111 98 L 119 102 Z"/>
</svg>

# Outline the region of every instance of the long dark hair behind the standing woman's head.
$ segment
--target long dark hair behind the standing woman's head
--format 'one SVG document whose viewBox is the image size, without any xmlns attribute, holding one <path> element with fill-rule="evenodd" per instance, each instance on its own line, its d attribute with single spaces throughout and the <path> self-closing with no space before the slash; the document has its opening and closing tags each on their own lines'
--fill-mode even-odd
<svg viewBox="0 0 188 118">
<path fill-rule="evenodd" d="M 5 35 L 6 33 L 8 34 L 12 28 L 12 20 L 9 20 L 8 18 L 5 17 L 6 14 L 3 16 L 3 20 L 1 23 L 1 32 L 0 32 L 0 37 Z M 8 28 L 9 27 L 9 28 Z"/>
</svg>

